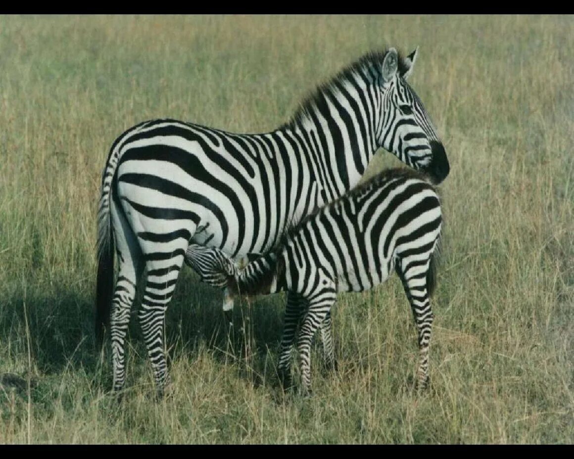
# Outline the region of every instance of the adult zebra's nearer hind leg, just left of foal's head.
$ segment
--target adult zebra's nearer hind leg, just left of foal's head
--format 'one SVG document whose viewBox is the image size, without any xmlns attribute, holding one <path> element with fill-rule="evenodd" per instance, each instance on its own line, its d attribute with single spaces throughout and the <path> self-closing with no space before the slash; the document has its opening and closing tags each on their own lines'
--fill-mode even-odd
<svg viewBox="0 0 574 459">
<path fill-rule="evenodd" d="M 169 386 L 164 349 L 165 312 L 176 287 L 184 254 L 185 247 L 166 254 L 149 254 L 146 261 L 147 279 L 138 319 L 152 363 L 158 396 L 162 396 Z"/>
</svg>

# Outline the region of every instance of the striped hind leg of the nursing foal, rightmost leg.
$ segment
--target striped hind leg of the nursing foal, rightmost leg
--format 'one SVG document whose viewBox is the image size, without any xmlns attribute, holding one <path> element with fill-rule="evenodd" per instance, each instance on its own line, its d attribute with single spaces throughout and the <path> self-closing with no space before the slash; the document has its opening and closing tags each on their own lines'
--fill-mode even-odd
<svg viewBox="0 0 574 459">
<path fill-rule="evenodd" d="M 399 264 L 404 265 L 405 263 L 402 261 L 397 263 L 395 269 L 409 299 L 414 324 L 418 331 L 417 390 L 423 390 L 429 384 L 430 329 L 434 317 L 430 309 L 429 289 L 426 285 L 429 260 L 409 263 L 408 266 L 399 266 Z"/>
</svg>

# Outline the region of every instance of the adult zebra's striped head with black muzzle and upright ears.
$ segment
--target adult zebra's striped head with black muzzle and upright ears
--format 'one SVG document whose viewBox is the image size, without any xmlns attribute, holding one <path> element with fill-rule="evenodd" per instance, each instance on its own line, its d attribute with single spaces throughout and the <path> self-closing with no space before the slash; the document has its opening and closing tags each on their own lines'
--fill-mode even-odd
<svg viewBox="0 0 574 459">
<path fill-rule="evenodd" d="M 406 82 L 417 52 L 418 48 L 400 59 L 397 50 L 390 48 L 383 58 L 379 84 L 382 116 L 377 139 L 379 146 L 439 184 L 450 170 L 447 154 L 425 107 Z"/>
</svg>

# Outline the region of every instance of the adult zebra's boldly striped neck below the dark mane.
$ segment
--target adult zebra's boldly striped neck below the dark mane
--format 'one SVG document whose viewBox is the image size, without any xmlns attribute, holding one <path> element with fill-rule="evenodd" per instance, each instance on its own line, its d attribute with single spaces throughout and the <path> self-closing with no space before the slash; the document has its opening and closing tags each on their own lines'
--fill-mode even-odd
<svg viewBox="0 0 574 459">
<path fill-rule="evenodd" d="M 309 187 L 307 199 L 316 193 L 318 207 L 354 188 L 378 149 L 379 110 L 370 85 L 359 73 L 335 79 L 320 88 L 296 119 L 276 131 L 300 145 L 296 154 L 317 187 Z"/>
</svg>

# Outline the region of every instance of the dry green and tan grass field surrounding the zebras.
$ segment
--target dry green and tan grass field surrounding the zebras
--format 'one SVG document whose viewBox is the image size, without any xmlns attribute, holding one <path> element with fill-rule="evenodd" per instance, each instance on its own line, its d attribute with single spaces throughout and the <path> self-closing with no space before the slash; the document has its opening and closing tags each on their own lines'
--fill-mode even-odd
<svg viewBox="0 0 574 459">
<path fill-rule="evenodd" d="M 417 45 L 451 163 L 431 389 L 413 393 L 397 278 L 340 296 L 339 371 L 315 347 L 301 399 L 275 371 L 285 297 L 242 301 L 227 343 L 220 293 L 186 269 L 172 394 L 154 398 L 133 321 L 118 403 L 92 333 L 114 139 L 160 117 L 268 131 L 367 50 Z M 573 49 L 572 16 L 0 17 L 0 374 L 30 380 L 0 388 L 0 443 L 574 442 Z"/>
</svg>

